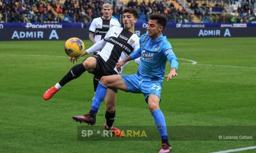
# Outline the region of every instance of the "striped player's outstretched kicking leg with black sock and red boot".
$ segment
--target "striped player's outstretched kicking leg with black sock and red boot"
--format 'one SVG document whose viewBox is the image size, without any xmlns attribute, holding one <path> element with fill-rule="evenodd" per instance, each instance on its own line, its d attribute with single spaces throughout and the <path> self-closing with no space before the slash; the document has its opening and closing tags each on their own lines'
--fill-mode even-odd
<svg viewBox="0 0 256 153">
<path fill-rule="evenodd" d="M 48 89 L 44 93 L 44 99 L 49 100 L 56 94 L 56 92 L 60 91 L 61 87 L 63 87 L 65 84 L 70 82 L 71 80 L 74 80 L 78 77 L 80 77 L 84 71 L 93 71 L 93 69 L 96 67 L 96 59 L 95 57 L 88 57 L 86 60 L 84 60 L 81 64 L 77 64 L 73 68 L 68 71 L 67 75 L 65 75 L 60 82 L 58 82 L 56 85 Z"/>
</svg>

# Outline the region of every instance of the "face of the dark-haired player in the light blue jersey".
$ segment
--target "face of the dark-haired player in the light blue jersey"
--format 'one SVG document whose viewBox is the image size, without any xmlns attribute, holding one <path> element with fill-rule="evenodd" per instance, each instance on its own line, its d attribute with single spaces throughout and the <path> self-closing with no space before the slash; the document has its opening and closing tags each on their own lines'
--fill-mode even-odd
<svg viewBox="0 0 256 153">
<path fill-rule="evenodd" d="M 149 20 L 148 21 L 148 36 L 150 36 L 153 40 L 156 39 L 163 31 L 163 26 L 157 24 L 157 20 Z"/>
</svg>

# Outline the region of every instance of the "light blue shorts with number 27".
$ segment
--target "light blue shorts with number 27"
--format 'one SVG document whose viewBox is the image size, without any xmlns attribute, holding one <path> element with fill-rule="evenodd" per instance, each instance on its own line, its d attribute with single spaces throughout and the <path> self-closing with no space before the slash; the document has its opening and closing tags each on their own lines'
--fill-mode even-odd
<svg viewBox="0 0 256 153">
<path fill-rule="evenodd" d="M 137 74 L 121 75 L 129 92 L 143 93 L 147 102 L 150 94 L 155 94 L 161 100 L 162 82 L 142 79 Z"/>
</svg>

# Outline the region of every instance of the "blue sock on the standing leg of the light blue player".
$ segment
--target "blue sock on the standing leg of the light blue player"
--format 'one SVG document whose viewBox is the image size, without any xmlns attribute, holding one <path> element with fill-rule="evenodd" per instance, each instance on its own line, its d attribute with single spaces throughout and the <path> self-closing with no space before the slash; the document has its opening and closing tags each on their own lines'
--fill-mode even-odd
<svg viewBox="0 0 256 153">
<path fill-rule="evenodd" d="M 166 122 L 165 122 L 165 118 L 164 118 L 164 114 L 163 112 L 159 109 L 154 110 L 151 113 L 155 119 L 155 124 L 157 126 L 157 129 L 159 131 L 159 134 L 163 140 L 167 140 L 168 141 L 168 134 L 167 134 L 167 129 L 166 129 Z"/>
</svg>

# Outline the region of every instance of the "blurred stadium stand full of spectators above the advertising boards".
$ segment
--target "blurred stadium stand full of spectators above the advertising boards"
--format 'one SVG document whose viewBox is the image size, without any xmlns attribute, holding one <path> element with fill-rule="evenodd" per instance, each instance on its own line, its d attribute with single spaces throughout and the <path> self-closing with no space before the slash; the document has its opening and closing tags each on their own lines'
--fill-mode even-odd
<svg viewBox="0 0 256 153">
<path fill-rule="evenodd" d="M 0 22 L 82 22 L 101 16 L 103 0 L 0 0 Z M 111 1 L 108 1 L 111 2 Z M 256 23 L 255 0 L 114 0 L 113 15 L 137 8 L 138 22 L 152 13 L 173 23 Z"/>
</svg>

